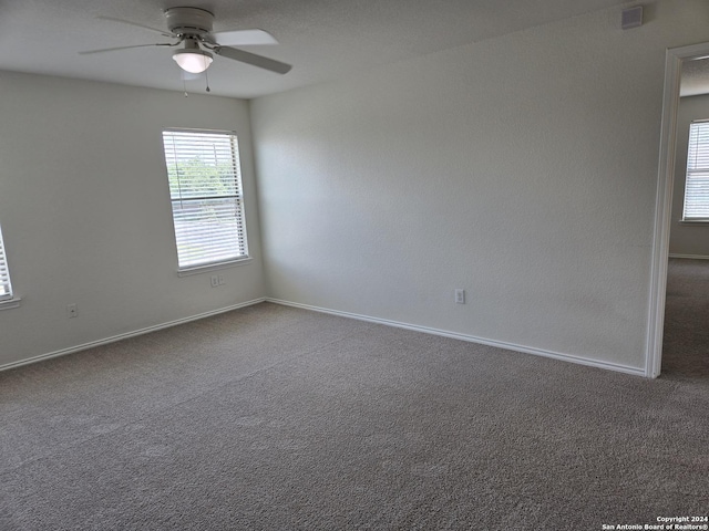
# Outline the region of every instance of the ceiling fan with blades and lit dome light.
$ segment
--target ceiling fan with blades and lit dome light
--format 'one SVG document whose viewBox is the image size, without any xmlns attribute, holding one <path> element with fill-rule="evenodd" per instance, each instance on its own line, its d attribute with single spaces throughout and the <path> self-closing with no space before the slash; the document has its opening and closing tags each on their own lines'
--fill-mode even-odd
<svg viewBox="0 0 709 531">
<path fill-rule="evenodd" d="M 199 8 L 169 8 L 165 10 L 167 31 L 138 24 L 129 20 L 113 17 L 97 17 L 99 19 L 135 25 L 145 30 L 160 33 L 173 42 L 158 42 L 155 44 L 134 44 L 129 46 L 106 48 L 79 52 L 82 55 L 92 53 L 114 52 L 132 48 L 167 46 L 175 48 L 184 44 L 173 53 L 173 59 L 186 72 L 199 74 L 207 70 L 214 61 L 214 52 L 223 58 L 233 59 L 242 63 L 250 64 L 259 69 L 268 70 L 277 74 L 285 74 L 292 67 L 274 59 L 246 52 L 232 45 L 278 44 L 278 41 L 264 30 L 234 30 L 212 32 L 214 14 Z M 229 45 L 226 45 L 229 44 Z"/>
</svg>

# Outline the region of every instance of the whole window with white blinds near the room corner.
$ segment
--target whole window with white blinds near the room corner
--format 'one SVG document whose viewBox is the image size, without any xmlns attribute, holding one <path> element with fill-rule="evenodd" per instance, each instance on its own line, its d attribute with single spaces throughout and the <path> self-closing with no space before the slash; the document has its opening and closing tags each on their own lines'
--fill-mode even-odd
<svg viewBox="0 0 709 531">
<path fill-rule="evenodd" d="M 237 138 L 163 132 L 181 271 L 248 258 Z"/>
</svg>

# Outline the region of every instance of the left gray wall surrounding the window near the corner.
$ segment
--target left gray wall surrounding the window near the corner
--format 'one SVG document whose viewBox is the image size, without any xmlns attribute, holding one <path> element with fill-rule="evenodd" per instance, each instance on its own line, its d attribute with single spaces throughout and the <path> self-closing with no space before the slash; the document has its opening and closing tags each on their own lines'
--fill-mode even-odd
<svg viewBox="0 0 709 531">
<path fill-rule="evenodd" d="M 247 102 L 7 72 L 0 94 L 0 223 L 23 298 L 0 311 L 0 366 L 265 295 Z M 164 127 L 239 135 L 255 260 L 219 271 L 224 287 L 177 277 Z"/>
</svg>

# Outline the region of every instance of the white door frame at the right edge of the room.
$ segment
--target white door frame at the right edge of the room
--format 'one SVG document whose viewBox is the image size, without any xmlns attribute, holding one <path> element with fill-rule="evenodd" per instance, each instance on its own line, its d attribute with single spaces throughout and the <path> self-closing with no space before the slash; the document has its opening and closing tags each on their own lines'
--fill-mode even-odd
<svg viewBox="0 0 709 531">
<path fill-rule="evenodd" d="M 667 260 L 672 214 L 672 185 L 675 183 L 675 149 L 677 145 L 677 111 L 682 62 L 709 58 L 709 42 L 670 48 L 665 55 L 665 93 L 660 132 L 660 158 L 655 204 L 653 237 L 653 266 L 650 273 L 649 322 L 645 375 L 657 378 L 662 366 L 662 330 L 667 295 Z"/>
</svg>

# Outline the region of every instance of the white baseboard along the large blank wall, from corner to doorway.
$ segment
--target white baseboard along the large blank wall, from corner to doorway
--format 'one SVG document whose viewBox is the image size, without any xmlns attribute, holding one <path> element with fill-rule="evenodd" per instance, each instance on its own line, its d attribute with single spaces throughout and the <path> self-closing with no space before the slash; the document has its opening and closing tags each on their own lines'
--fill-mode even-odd
<svg viewBox="0 0 709 531">
<path fill-rule="evenodd" d="M 563 361 L 563 362 L 576 363 L 578 365 L 586 365 L 586 366 L 589 366 L 589 367 L 605 368 L 605 369 L 615 371 L 615 372 L 618 372 L 618 373 L 631 374 L 634 376 L 647 377 L 647 375 L 645 373 L 645 368 L 630 367 L 630 366 L 627 366 L 627 365 L 620 365 L 620 364 L 610 363 L 610 362 L 600 362 L 600 361 L 597 361 L 597 360 L 589 360 L 587 357 L 575 356 L 573 354 L 563 354 L 563 353 L 559 353 L 559 352 L 545 351 L 545 350 L 542 350 L 542 348 L 534 348 L 534 347 L 530 347 L 530 346 L 515 345 L 514 343 L 505 343 L 503 341 L 487 340 L 487 339 L 484 339 L 484 337 L 476 337 L 474 335 L 460 334 L 458 332 L 449 332 L 446 330 L 439 330 L 439 329 L 432 329 L 432 327 L 429 327 L 429 326 L 419 326 L 419 325 L 415 325 L 415 324 L 400 323 L 398 321 L 389 321 L 387 319 L 370 317 L 368 315 L 360 315 L 360 314 L 350 313 L 350 312 L 341 312 L 339 310 L 330 310 L 330 309 L 327 309 L 327 308 L 311 306 L 310 304 L 300 304 L 298 302 L 282 301 L 280 299 L 267 298 L 266 302 L 273 302 L 275 304 L 281 304 L 284 306 L 300 308 L 302 310 L 310 310 L 310 311 L 314 311 L 314 312 L 329 313 L 331 315 L 339 315 L 341 317 L 356 319 L 358 321 L 367 321 L 367 322 L 370 322 L 370 323 L 384 324 L 387 326 L 394 326 L 394 327 L 398 327 L 398 329 L 413 330 L 415 332 L 423 332 L 423 333 L 432 334 L 432 335 L 441 335 L 443 337 L 452 337 L 454 340 L 467 341 L 470 343 L 479 343 L 481 345 L 495 346 L 497 348 L 505 348 L 507 351 L 515 351 L 515 352 L 522 352 L 522 353 L 525 353 L 525 354 L 533 354 L 535 356 L 551 357 L 553 360 L 559 360 L 559 361 Z"/>
</svg>

